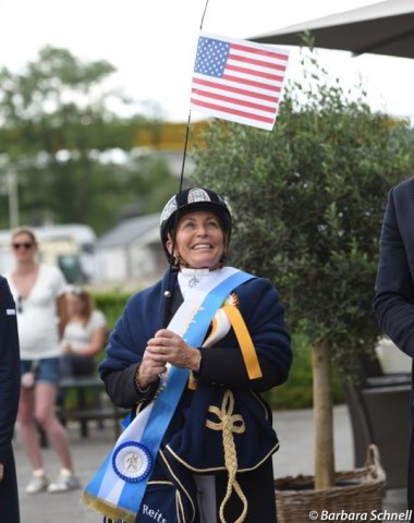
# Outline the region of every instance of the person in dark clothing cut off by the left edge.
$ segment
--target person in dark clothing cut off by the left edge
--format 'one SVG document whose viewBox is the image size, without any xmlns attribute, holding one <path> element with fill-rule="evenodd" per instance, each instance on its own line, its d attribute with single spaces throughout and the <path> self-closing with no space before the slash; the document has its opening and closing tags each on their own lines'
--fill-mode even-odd
<svg viewBox="0 0 414 523">
<path fill-rule="evenodd" d="M 9 284 L 0 276 L 0 521 L 19 523 L 19 495 L 12 438 L 20 396 L 16 311 Z"/>
</svg>

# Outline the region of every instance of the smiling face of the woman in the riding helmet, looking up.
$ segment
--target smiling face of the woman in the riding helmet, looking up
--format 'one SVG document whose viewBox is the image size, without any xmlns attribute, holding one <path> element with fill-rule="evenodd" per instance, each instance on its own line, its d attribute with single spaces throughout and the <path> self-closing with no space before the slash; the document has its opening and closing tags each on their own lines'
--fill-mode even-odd
<svg viewBox="0 0 414 523">
<path fill-rule="evenodd" d="M 167 242 L 171 254 L 172 241 Z M 175 257 L 180 265 L 193 269 L 212 269 L 224 253 L 224 233 L 214 212 L 195 211 L 183 216 L 176 228 Z"/>
</svg>

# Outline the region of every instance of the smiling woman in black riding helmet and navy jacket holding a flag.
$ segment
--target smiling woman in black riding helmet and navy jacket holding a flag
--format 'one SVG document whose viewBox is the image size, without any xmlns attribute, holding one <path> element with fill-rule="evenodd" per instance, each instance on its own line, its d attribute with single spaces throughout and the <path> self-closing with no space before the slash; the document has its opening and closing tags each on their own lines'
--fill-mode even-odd
<svg viewBox="0 0 414 523">
<path fill-rule="evenodd" d="M 192 187 L 171 198 L 161 216 L 161 241 L 174 269 L 129 301 L 100 365 L 112 401 L 139 411 L 158 393 L 167 363 L 187 368 L 195 380 L 185 387 L 162 438 L 139 522 L 161 513 L 169 523 L 276 521 L 271 454 L 279 443 L 259 393 L 285 381 L 292 360 L 277 290 L 255 277 L 236 287 L 228 308 L 216 313 L 203 346 L 160 329 L 183 300 L 192 303 L 197 285 L 224 270 L 230 233 L 230 211 L 212 191 Z M 166 295 L 171 296 L 168 307 Z M 248 332 L 251 342 L 241 342 L 236 331 Z M 254 378 L 252 360 L 260 369 Z M 223 438 L 224 418 L 232 423 L 230 442 Z M 168 482 L 173 484 L 170 507 L 168 492 L 156 491 Z"/>
</svg>

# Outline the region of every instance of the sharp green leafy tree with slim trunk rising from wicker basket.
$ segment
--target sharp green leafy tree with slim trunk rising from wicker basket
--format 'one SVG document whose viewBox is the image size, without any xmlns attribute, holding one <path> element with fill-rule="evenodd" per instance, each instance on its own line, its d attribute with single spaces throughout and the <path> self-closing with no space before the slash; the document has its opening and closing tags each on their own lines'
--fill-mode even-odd
<svg viewBox="0 0 414 523">
<path fill-rule="evenodd" d="M 214 121 L 195 178 L 229 198 L 234 264 L 281 291 L 312 343 L 316 488 L 332 485 L 331 357 L 351 376 L 379 335 L 372 311 L 387 193 L 414 173 L 413 130 L 329 83 L 310 54 L 272 133 Z M 355 98 L 355 94 L 358 93 Z"/>
</svg>

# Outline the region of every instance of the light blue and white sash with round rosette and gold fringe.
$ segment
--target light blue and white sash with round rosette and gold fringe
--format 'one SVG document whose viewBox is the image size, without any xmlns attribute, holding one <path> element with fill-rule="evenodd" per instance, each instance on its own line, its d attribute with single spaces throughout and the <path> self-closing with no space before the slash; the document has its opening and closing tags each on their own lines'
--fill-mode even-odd
<svg viewBox="0 0 414 523">
<path fill-rule="evenodd" d="M 193 346 L 232 290 L 254 278 L 232 267 L 211 272 L 180 306 L 168 326 Z M 135 523 L 163 435 L 188 381 L 188 370 L 170 366 L 163 391 L 125 428 L 85 488 L 83 502 L 112 520 Z"/>
</svg>

